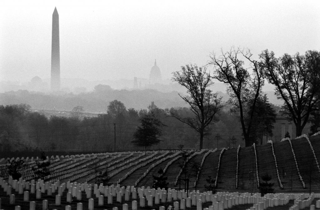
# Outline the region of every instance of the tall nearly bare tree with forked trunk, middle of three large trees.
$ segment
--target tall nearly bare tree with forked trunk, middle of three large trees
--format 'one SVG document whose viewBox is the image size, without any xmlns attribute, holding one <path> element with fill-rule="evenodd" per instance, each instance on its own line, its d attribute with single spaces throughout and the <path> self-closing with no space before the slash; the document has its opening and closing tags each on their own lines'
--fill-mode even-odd
<svg viewBox="0 0 320 210">
<path fill-rule="evenodd" d="M 251 130 L 254 120 L 254 110 L 258 97 L 261 94 L 261 87 L 264 85 L 263 73 L 258 68 L 258 62 L 252 59 L 250 50 L 244 52 L 239 48 L 232 48 L 229 52 L 217 56 L 212 53 L 209 64 L 214 65 L 215 74 L 212 78 L 228 85 L 229 104 L 233 105 L 240 114 L 240 122 L 244 136 L 245 146 L 251 146 L 253 139 Z M 249 68 L 244 68 L 244 61 L 249 62 Z M 252 74 L 250 74 L 252 72 Z M 249 108 L 249 101 L 250 107 Z M 246 116 L 246 113 L 249 115 Z"/>
</svg>

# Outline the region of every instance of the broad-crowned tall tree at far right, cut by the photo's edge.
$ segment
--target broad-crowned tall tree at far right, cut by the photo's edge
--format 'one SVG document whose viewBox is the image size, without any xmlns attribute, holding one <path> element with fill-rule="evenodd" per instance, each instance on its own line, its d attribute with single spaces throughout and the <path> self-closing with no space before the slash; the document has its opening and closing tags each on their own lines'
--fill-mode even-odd
<svg viewBox="0 0 320 210">
<path fill-rule="evenodd" d="M 305 55 L 276 58 L 274 52 L 264 50 L 260 59 L 260 68 L 276 86 L 276 95 L 284 100 L 283 107 L 296 126 L 296 136 L 300 136 L 320 100 L 320 53 L 309 50 Z"/>
</svg>

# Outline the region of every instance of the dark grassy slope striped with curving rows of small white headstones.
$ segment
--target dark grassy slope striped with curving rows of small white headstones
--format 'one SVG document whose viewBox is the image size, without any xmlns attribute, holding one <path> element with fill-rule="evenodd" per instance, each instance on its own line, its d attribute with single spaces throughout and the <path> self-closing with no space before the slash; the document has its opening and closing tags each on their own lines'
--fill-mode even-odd
<svg viewBox="0 0 320 210">
<path fill-rule="evenodd" d="M 218 178 L 216 187 L 219 191 L 253 192 L 258 191 L 257 175 L 259 182 L 262 182 L 261 177 L 268 174 L 276 192 L 308 191 L 310 187 L 311 191 L 317 192 L 320 189 L 320 135 L 308 139 L 294 139 L 291 144 L 287 140 L 274 142 L 273 149 L 271 143 L 255 148 L 232 148 L 224 150 L 221 156 L 221 149 L 190 151 L 190 167 L 187 173 L 181 173 L 180 178 L 189 178 L 190 190 L 205 190 L 206 179 L 211 176 Z M 156 151 L 139 151 L 60 157 L 52 161 L 53 173 L 46 177 L 46 181 L 94 183 L 95 172 L 92 165 L 95 164 L 100 171 L 108 170 L 110 182 L 113 184 L 119 182 L 124 186 L 135 185 L 139 179 L 137 187 L 152 186 L 153 175 L 160 168 L 166 168 L 164 176 L 168 177 L 169 187 L 179 189 L 179 182 L 177 185 L 175 182 L 179 178 L 180 166 L 183 163 L 181 151 L 162 150 L 155 153 Z M 205 155 L 206 153 L 208 154 Z M 5 160 L 2 161 L 0 164 L 4 164 Z M 194 166 L 200 166 L 201 162 L 203 165 L 196 180 Z M 27 180 L 35 178 L 31 166 L 29 163 L 23 171 L 23 178 Z M 4 169 L 5 166 L 0 167 Z M 184 188 L 183 182 L 181 188 Z"/>
</svg>

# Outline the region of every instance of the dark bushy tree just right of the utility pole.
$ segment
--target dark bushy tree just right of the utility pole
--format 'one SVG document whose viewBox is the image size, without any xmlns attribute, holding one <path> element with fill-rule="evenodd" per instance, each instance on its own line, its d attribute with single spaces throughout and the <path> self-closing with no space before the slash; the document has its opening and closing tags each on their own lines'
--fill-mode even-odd
<svg viewBox="0 0 320 210">
<path fill-rule="evenodd" d="M 131 141 L 138 147 L 150 147 L 152 145 L 161 142 L 159 137 L 162 134 L 161 127 L 162 122 L 158 120 L 154 114 L 149 112 L 147 115 L 141 118 L 141 126 L 138 126 L 137 130 L 133 133 L 135 140 Z"/>
</svg>

